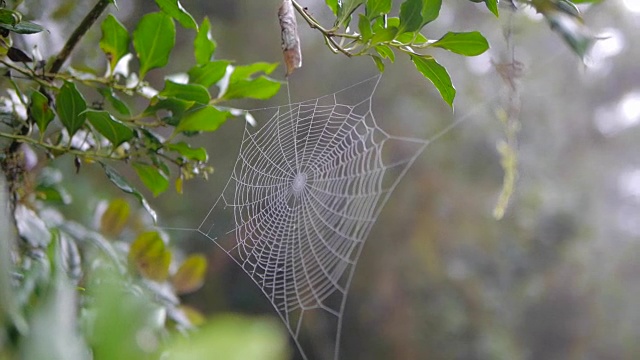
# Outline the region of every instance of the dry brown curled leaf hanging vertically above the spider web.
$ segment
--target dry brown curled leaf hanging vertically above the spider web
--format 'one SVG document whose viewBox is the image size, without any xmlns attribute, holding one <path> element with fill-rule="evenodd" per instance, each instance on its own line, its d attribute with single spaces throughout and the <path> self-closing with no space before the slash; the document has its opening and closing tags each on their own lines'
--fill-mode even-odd
<svg viewBox="0 0 640 360">
<path fill-rule="evenodd" d="M 287 66 L 286 76 L 289 76 L 295 69 L 302 67 L 298 23 L 291 0 L 282 1 L 278 10 L 278 19 L 280 19 L 282 35 L 282 53 L 284 54 L 284 63 Z"/>
</svg>

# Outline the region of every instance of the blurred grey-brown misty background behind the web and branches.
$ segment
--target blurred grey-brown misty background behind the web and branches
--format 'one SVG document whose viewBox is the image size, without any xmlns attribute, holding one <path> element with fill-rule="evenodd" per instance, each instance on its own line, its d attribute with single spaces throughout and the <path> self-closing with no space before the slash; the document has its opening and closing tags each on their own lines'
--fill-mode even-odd
<svg viewBox="0 0 640 360">
<path fill-rule="evenodd" d="M 29 7 L 30 15 L 50 19 L 43 25 L 60 30 L 42 35 L 46 41 L 32 38 L 49 56 L 63 41 L 55 36 L 75 26 L 60 19 L 79 20 L 93 4 L 40 3 Z M 331 24 L 323 1 L 300 3 Z M 198 22 L 204 15 L 211 19 L 218 59 L 281 61 L 279 1 L 182 4 Z M 128 28 L 155 11 L 151 1 L 118 6 L 114 14 Z M 640 2 L 606 0 L 581 9 L 602 39 L 585 64 L 531 10 L 512 15 L 501 8 L 497 20 L 482 4 L 445 1 L 440 17 L 427 26 L 427 37 L 480 30 L 492 46 L 466 59 L 434 50 L 458 90 L 453 113 L 408 58 L 387 66 L 373 97 L 382 128 L 431 139 L 460 123 L 418 158 L 374 226 L 349 293 L 341 358 L 640 358 L 640 39 L 635 35 Z M 301 20 L 299 28 L 303 67 L 289 79 L 292 101 L 338 91 L 377 73 L 369 58 L 334 55 Z M 97 44 L 100 32 L 94 30 L 83 41 Z M 505 33 L 511 33 L 510 40 Z M 183 69 L 193 63 L 193 38 L 186 32 L 179 36 L 169 66 Z M 496 114 L 508 106 L 511 86 L 496 64 L 512 61 L 510 48 L 522 63 L 515 84 L 519 177 L 504 218 L 496 220 L 492 214 L 503 178 L 496 146 L 505 138 Z M 98 46 L 93 50 L 75 55 L 103 62 Z M 277 71 L 274 76 L 284 79 L 283 67 Z M 161 74 L 150 76 L 156 86 L 162 83 Z M 271 101 L 236 105 L 288 101 L 283 86 Z M 160 225 L 196 228 L 204 219 L 231 173 L 243 121 L 197 139 L 210 149 L 215 172 L 208 181 L 187 183 L 182 196 L 154 199 Z M 63 159 L 59 166 L 70 169 L 71 162 Z M 78 183 L 74 192 L 117 194 L 100 169 L 94 170 L 96 176 Z M 74 206 L 82 218 L 89 216 L 83 209 L 95 204 Z M 185 303 L 208 315 L 276 316 L 249 277 L 212 242 L 195 232 L 171 235 L 174 245 L 204 252 L 210 261 L 204 288 Z M 306 331 L 312 339 L 327 336 L 320 327 Z M 310 358 L 324 352 L 322 343 L 307 344 Z"/>
</svg>

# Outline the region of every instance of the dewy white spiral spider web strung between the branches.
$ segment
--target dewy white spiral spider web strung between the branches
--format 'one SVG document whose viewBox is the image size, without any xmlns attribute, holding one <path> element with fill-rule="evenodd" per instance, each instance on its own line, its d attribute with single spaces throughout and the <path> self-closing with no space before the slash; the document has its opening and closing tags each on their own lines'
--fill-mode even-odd
<svg viewBox="0 0 640 360">
<path fill-rule="evenodd" d="M 377 126 L 371 99 L 379 80 L 273 108 L 257 130 L 247 125 L 231 178 L 197 229 L 258 285 L 304 358 L 308 319 L 333 335 L 322 357 L 338 358 L 347 292 L 364 242 L 428 144 Z"/>
</svg>

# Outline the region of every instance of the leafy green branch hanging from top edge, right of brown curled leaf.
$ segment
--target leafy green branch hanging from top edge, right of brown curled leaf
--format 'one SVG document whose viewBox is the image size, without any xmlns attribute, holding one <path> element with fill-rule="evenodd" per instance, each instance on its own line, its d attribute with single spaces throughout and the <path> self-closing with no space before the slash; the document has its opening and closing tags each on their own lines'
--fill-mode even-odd
<svg viewBox="0 0 640 360">
<path fill-rule="evenodd" d="M 487 9 L 499 16 L 497 0 L 470 0 L 484 2 Z M 526 0 L 508 1 L 511 9 L 531 6 L 542 13 L 551 27 L 581 58 L 585 56 L 595 38 L 585 27 L 575 3 L 596 0 Z M 408 55 L 418 72 L 431 81 L 442 99 L 453 107 L 456 95 L 449 72 L 431 53 L 440 48 L 464 56 L 477 56 L 489 49 L 487 40 L 477 31 L 447 32 L 431 39 L 422 31 L 440 14 L 442 0 L 405 0 L 398 16 L 392 16 L 392 0 L 325 0 L 336 16 L 331 28 L 324 27 L 309 10 L 296 0 L 293 7 L 312 29 L 320 32 L 325 43 L 336 54 L 369 56 L 383 72 L 385 61 L 393 63 L 395 53 Z M 362 11 L 360 11 L 362 10 Z M 356 16 L 357 15 L 357 16 Z M 352 21 L 357 18 L 357 26 Z"/>
</svg>

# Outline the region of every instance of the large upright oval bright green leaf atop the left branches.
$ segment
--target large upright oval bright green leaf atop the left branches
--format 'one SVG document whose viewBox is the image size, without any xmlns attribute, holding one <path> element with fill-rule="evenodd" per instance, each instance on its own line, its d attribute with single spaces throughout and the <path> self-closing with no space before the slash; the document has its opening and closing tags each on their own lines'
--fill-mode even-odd
<svg viewBox="0 0 640 360">
<path fill-rule="evenodd" d="M 142 17 L 133 32 L 133 47 L 140 59 L 140 79 L 151 69 L 163 67 L 176 42 L 173 20 L 164 13 L 150 13 Z"/>
</svg>

